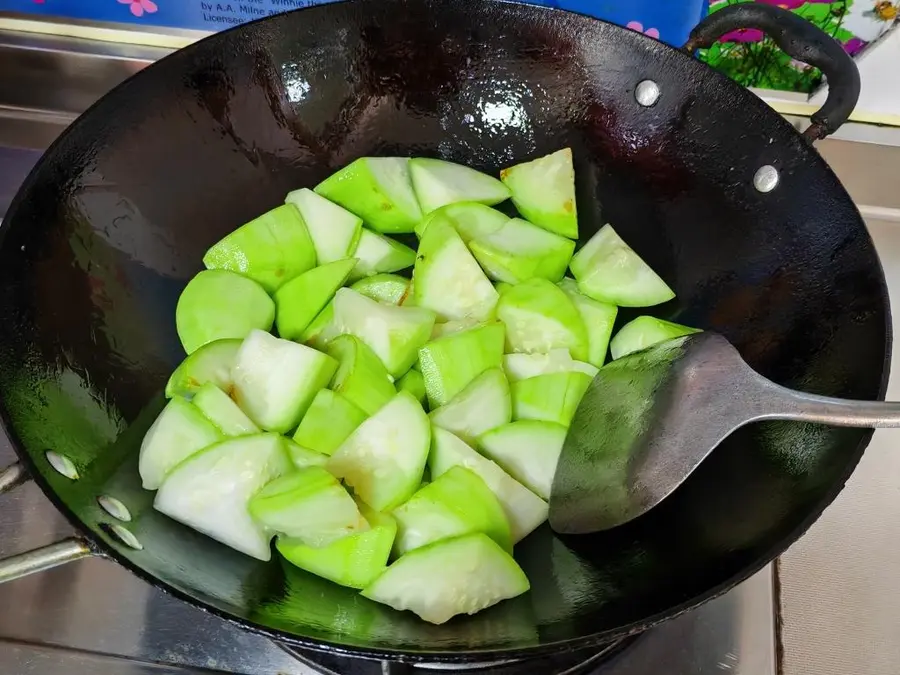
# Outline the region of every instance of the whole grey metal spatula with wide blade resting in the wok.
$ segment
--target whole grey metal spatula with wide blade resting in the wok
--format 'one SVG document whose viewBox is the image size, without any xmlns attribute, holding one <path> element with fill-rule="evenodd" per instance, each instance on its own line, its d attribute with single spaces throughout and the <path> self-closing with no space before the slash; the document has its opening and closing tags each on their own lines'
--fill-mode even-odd
<svg viewBox="0 0 900 675">
<path fill-rule="evenodd" d="M 625 356 L 600 370 L 572 421 L 553 480 L 551 527 L 585 534 L 637 518 L 728 434 L 760 420 L 898 427 L 900 403 L 786 389 L 715 333 Z"/>
</svg>

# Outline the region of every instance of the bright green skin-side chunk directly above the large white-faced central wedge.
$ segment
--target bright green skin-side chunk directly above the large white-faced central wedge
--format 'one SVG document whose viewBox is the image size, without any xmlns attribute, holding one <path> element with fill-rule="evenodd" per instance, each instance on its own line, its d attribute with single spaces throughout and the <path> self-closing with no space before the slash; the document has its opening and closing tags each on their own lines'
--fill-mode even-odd
<svg viewBox="0 0 900 675">
<path fill-rule="evenodd" d="M 397 392 L 381 359 L 355 335 L 336 337 L 328 355 L 339 363 L 331 388 L 364 415 L 374 415 L 394 398 Z"/>
</svg>

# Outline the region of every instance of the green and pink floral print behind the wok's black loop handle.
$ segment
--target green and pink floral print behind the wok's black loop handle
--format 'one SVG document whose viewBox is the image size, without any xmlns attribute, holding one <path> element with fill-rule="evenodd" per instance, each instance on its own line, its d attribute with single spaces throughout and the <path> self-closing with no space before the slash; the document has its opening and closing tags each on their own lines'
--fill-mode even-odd
<svg viewBox="0 0 900 675">
<path fill-rule="evenodd" d="M 737 2 L 760 2 L 791 10 L 834 37 L 853 56 L 887 32 L 897 21 L 900 0 L 717 0 L 715 12 Z M 756 29 L 728 33 L 701 57 L 748 86 L 811 93 L 821 73 L 795 61 Z"/>
</svg>

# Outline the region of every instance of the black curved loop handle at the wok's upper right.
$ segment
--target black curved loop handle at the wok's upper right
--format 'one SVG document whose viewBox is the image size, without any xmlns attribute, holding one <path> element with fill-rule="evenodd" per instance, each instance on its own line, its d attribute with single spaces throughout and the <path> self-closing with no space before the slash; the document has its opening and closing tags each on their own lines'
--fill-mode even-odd
<svg viewBox="0 0 900 675">
<path fill-rule="evenodd" d="M 772 38 L 790 56 L 815 66 L 828 80 L 828 98 L 812 116 L 803 136 L 817 141 L 837 131 L 859 100 L 859 70 L 843 46 L 806 19 L 774 5 L 741 3 L 713 12 L 691 31 L 683 50 L 712 46 L 726 33 L 756 28 Z"/>
</svg>

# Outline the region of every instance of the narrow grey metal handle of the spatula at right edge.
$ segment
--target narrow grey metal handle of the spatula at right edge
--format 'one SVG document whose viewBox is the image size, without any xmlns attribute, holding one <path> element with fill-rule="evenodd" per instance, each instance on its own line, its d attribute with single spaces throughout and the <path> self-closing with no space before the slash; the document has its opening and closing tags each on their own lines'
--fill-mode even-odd
<svg viewBox="0 0 900 675">
<path fill-rule="evenodd" d="M 817 396 L 784 387 L 776 389 L 784 402 L 784 412 L 769 419 L 818 422 L 834 427 L 900 427 L 900 402 L 850 401 Z"/>
</svg>

